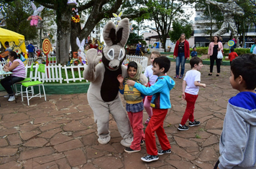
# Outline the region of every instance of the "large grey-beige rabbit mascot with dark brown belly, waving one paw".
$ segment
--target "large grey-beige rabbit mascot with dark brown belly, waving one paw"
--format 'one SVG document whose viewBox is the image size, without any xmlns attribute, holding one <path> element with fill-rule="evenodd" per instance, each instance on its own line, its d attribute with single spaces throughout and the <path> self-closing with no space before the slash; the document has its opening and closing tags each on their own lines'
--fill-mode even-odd
<svg viewBox="0 0 256 169">
<path fill-rule="evenodd" d="M 126 57 L 124 45 L 129 37 L 129 20 L 122 19 L 118 26 L 109 21 L 104 26 L 103 37 L 106 46 L 102 54 L 96 49 L 89 49 L 86 53 L 88 66 L 83 71 L 83 77 L 91 82 L 88 88 L 88 103 L 93 110 L 94 120 L 98 127 L 98 141 L 101 144 L 109 143 L 109 113 L 114 117 L 125 147 L 131 145 L 133 137 L 129 125 L 127 112 L 122 106 L 119 97 L 119 82 L 117 76 L 127 76 L 127 67 L 122 65 Z M 101 58 L 102 57 L 102 58 Z M 100 59 L 102 62 L 99 64 Z M 147 83 L 144 74 L 140 79 Z"/>
</svg>

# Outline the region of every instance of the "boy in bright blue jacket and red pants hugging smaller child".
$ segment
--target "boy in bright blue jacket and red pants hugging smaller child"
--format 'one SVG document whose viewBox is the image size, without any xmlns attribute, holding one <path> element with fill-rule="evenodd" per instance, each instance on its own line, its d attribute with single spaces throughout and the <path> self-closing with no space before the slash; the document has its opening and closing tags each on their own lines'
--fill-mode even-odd
<svg viewBox="0 0 256 169">
<path fill-rule="evenodd" d="M 168 77 L 165 73 L 170 69 L 170 60 L 167 57 L 157 57 L 153 62 L 153 74 L 157 75 L 157 82 L 150 87 L 134 82 L 133 80 L 127 80 L 129 86 L 134 86 L 143 95 L 152 95 L 151 107 L 153 115 L 149 124 L 145 130 L 145 143 L 147 148 L 147 154 L 142 157 L 141 160 L 145 162 L 151 162 L 158 160 L 158 155 L 165 153 L 171 153 L 170 143 L 165 130 L 163 128 L 163 121 L 170 109 L 170 90 L 173 89 L 175 82 Z M 159 143 L 162 150 L 157 150 L 155 143 L 155 132 L 157 133 Z"/>
</svg>

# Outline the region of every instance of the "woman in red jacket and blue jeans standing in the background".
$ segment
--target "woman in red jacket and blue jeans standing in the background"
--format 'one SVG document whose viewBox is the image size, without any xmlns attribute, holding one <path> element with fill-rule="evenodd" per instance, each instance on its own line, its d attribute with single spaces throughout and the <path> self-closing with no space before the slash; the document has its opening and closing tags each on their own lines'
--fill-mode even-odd
<svg viewBox="0 0 256 169">
<path fill-rule="evenodd" d="M 176 75 L 174 78 L 181 79 L 185 71 L 186 59 L 189 59 L 189 43 L 185 39 L 186 35 L 184 33 L 180 34 L 180 39 L 175 44 L 173 59 L 176 59 Z M 181 64 L 181 72 L 180 72 Z M 180 75 L 179 75 L 180 74 Z"/>
</svg>

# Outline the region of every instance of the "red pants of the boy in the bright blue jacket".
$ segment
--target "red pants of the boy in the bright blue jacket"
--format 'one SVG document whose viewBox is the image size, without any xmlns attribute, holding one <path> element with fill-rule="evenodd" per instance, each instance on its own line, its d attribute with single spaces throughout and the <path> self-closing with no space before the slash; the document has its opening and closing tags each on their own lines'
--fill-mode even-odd
<svg viewBox="0 0 256 169">
<path fill-rule="evenodd" d="M 157 133 L 159 143 L 162 150 L 169 150 L 170 143 L 165 130 L 163 129 L 163 121 L 168 112 L 168 109 L 155 109 L 153 108 L 153 115 L 145 130 L 145 143 L 147 154 L 157 155 L 157 145 L 155 142 L 155 132 Z"/>
</svg>

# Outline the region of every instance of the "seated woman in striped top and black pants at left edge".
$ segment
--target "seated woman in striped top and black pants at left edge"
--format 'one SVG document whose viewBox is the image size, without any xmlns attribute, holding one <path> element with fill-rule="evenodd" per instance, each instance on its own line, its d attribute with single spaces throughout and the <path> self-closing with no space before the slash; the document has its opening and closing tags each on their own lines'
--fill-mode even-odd
<svg viewBox="0 0 256 169">
<path fill-rule="evenodd" d="M 9 97 L 8 101 L 12 102 L 15 100 L 12 84 L 24 80 L 26 77 L 26 72 L 24 63 L 17 58 L 16 52 L 10 52 L 8 59 L 9 63 L 4 65 L 4 71 L 12 72 L 13 74 L 11 74 L 11 76 L 5 77 L 4 79 L 1 79 L 1 85 L 8 93 L 8 95 L 4 97 Z"/>
</svg>

